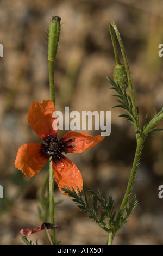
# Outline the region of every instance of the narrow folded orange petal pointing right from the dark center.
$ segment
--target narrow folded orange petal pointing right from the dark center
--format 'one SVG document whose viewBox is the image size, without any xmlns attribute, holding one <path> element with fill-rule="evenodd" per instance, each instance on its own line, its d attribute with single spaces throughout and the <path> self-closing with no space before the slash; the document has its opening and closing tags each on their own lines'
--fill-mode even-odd
<svg viewBox="0 0 163 256">
<path fill-rule="evenodd" d="M 105 136 L 97 135 L 91 136 L 85 132 L 68 132 L 61 139 L 68 141 L 72 139 L 72 142 L 67 143 L 68 146 L 75 145 L 73 148 L 67 148 L 66 152 L 68 153 L 81 153 L 86 149 L 89 149 L 95 146 L 98 142 L 101 142 Z"/>
</svg>

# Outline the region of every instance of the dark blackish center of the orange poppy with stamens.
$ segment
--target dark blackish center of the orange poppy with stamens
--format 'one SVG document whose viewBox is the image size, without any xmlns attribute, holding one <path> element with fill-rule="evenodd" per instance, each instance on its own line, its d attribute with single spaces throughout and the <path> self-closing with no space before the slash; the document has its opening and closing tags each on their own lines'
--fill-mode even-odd
<svg viewBox="0 0 163 256">
<path fill-rule="evenodd" d="M 57 137 L 52 137 L 48 135 L 48 137 L 45 139 L 45 143 L 42 143 L 42 153 L 46 156 L 52 156 L 54 160 L 61 160 L 62 159 L 62 152 L 67 153 L 67 148 L 74 148 L 75 145 L 68 145 L 71 142 L 74 142 L 75 139 L 68 139 L 67 141 L 64 141 L 63 139 L 60 139 L 58 141 Z"/>
</svg>

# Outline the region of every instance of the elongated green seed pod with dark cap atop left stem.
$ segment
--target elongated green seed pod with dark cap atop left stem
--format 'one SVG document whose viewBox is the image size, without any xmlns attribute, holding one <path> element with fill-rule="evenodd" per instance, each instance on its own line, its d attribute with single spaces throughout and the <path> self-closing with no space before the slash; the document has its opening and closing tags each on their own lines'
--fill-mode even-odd
<svg viewBox="0 0 163 256">
<path fill-rule="evenodd" d="M 49 26 L 48 60 L 54 62 L 60 35 L 60 17 L 53 16 Z"/>
</svg>

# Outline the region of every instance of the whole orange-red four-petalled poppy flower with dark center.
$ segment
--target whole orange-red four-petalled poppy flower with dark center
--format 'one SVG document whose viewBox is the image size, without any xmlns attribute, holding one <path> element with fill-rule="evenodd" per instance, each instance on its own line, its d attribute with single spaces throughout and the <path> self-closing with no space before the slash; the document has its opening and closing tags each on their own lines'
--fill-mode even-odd
<svg viewBox="0 0 163 256">
<path fill-rule="evenodd" d="M 44 143 L 27 143 L 18 149 L 15 167 L 22 170 L 27 177 L 40 172 L 49 157 L 52 157 L 54 178 L 60 191 L 71 186 L 77 192 L 82 190 L 83 179 L 76 165 L 62 153 L 80 153 L 93 147 L 104 139 L 104 136 L 91 136 L 83 132 L 68 132 L 60 140 L 57 139 L 57 118 L 53 118 L 55 106 L 53 101 L 44 100 L 41 104 L 32 103 L 28 114 L 28 123 L 43 139 Z"/>
</svg>

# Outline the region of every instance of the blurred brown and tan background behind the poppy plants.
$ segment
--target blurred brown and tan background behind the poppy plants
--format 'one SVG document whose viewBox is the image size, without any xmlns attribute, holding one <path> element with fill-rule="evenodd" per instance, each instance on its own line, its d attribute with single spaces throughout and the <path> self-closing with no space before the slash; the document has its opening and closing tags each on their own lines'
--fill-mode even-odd
<svg viewBox="0 0 163 256">
<path fill-rule="evenodd" d="M 49 99 L 48 28 L 53 15 L 61 17 L 60 42 L 55 62 L 56 107 L 64 111 L 111 111 L 111 135 L 82 154 L 68 154 L 82 172 L 84 185 L 104 197 L 112 193 L 115 209 L 122 202 L 135 154 L 133 127 L 118 115 L 106 76 L 112 77 L 115 59 L 109 34 L 113 20 L 126 48 L 141 126 L 146 113 L 160 111 L 163 99 L 163 5 L 136 0 L 1 0 L 0 43 L 0 244 L 24 245 L 21 228 L 41 224 L 38 207 L 48 165 L 34 178 L 14 167 L 18 148 L 40 142 L 27 115 L 34 100 Z M 128 92 L 128 90 L 127 90 Z M 162 123 L 159 124 L 159 127 Z M 66 131 L 67 132 L 67 131 Z M 65 132 L 58 132 L 61 137 Z M 98 131 L 89 131 L 97 135 Z M 118 231 L 114 245 L 163 245 L 163 136 L 146 139 L 133 194 L 139 205 Z M 107 234 L 92 223 L 55 185 L 57 240 L 62 245 L 105 245 Z M 93 235 L 92 235 L 93 234 Z M 44 231 L 29 236 L 46 244 Z"/>
</svg>

